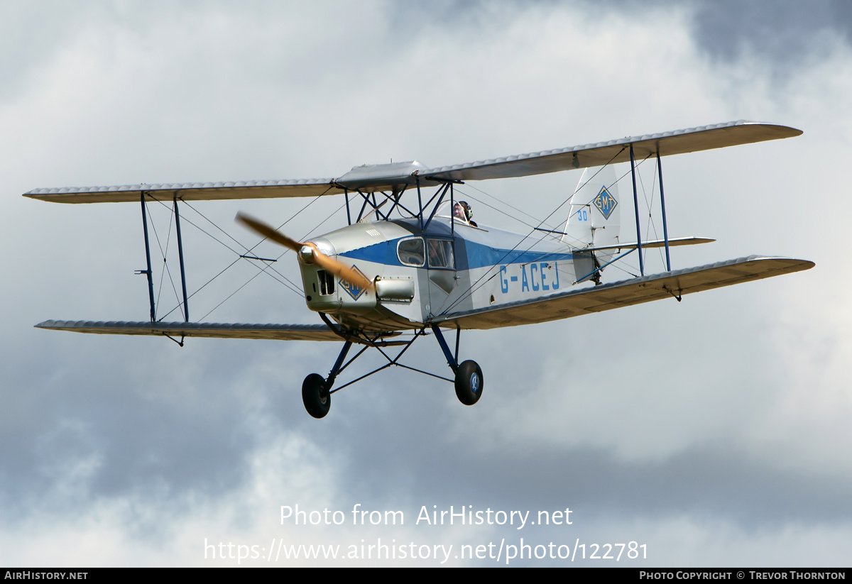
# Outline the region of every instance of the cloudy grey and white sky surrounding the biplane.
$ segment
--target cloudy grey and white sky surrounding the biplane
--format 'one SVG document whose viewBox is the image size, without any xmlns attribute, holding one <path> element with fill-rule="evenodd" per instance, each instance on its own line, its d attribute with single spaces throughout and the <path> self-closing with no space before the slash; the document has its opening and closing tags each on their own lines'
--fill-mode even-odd
<svg viewBox="0 0 852 584">
<path fill-rule="evenodd" d="M 848 565 L 850 43 L 841 0 L 0 3 L 0 565 Z M 473 407 L 396 368 L 317 421 L 299 389 L 331 369 L 335 343 L 33 328 L 148 315 L 138 205 L 20 197 L 33 188 L 333 177 L 736 119 L 804 134 L 664 159 L 671 235 L 717 239 L 673 249 L 673 266 L 816 267 L 465 332 L 462 358 L 485 379 Z M 653 169 L 640 170 L 648 200 Z M 481 224 L 521 230 L 505 204 L 544 218 L 578 180 L 459 189 Z M 296 238 L 345 225 L 342 200 L 308 203 L 181 208 L 189 289 L 233 261 L 213 224 L 256 243 L 238 210 L 276 225 L 299 213 Z M 175 242 L 168 209 L 151 212 L 170 243 L 162 286 L 154 258 L 163 315 Z M 292 255 L 277 265 L 299 282 Z M 319 322 L 256 274 L 244 262 L 213 279 L 192 318 Z M 431 338 L 409 363 L 446 375 Z M 425 519 L 451 507 L 485 520 Z"/>
</svg>

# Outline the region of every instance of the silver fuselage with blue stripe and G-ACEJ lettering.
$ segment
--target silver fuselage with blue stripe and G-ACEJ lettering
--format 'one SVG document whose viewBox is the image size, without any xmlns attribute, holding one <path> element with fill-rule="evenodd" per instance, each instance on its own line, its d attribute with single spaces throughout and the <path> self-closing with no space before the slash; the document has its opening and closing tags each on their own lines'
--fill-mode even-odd
<svg viewBox="0 0 852 584">
<path fill-rule="evenodd" d="M 300 261 L 308 308 L 367 332 L 419 329 L 459 312 L 553 295 L 576 279 L 565 243 L 449 217 L 435 217 L 425 230 L 417 219 L 356 223 L 310 241 L 375 279 L 377 290 Z"/>
</svg>

